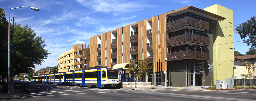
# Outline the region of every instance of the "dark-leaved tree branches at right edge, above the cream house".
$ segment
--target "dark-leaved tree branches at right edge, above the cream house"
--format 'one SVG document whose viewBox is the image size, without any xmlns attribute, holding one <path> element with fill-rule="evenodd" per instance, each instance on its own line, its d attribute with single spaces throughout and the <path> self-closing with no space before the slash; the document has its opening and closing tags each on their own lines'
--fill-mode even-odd
<svg viewBox="0 0 256 101">
<path fill-rule="evenodd" d="M 240 24 L 235 28 L 235 31 L 240 35 L 240 39 L 243 39 L 243 43 L 246 43 L 251 48 L 256 48 L 256 17 L 251 17 L 250 20 Z M 247 38 L 247 40 L 245 40 Z"/>
</svg>

